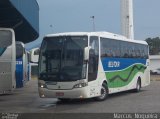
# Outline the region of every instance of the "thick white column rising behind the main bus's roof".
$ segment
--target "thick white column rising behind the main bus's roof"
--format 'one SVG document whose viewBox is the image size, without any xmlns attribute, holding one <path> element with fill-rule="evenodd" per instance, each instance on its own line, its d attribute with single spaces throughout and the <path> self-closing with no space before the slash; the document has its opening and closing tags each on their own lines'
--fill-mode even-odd
<svg viewBox="0 0 160 119">
<path fill-rule="evenodd" d="M 122 35 L 134 39 L 133 0 L 121 0 Z"/>
</svg>

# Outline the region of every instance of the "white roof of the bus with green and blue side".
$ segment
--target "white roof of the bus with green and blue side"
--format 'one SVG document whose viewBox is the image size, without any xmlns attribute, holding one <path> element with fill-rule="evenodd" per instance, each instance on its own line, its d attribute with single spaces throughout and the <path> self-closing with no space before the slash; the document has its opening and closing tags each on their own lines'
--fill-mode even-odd
<svg viewBox="0 0 160 119">
<path fill-rule="evenodd" d="M 145 44 L 147 45 L 146 41 L 143 40 L 132 40 L 127 39 L 125 36 L 102 31 L 102 32 L 64 32 L 64 33 L 56 33 L 56 34 L 48 34 L 45 37 L 57 37 L 57 36 L 99 36 L 103 38 L 110 38 L 120 41 L 126 41 L 126 42 L 133 42 L 133 43 L 139 43 L 139 44 Z"/>
</svg>

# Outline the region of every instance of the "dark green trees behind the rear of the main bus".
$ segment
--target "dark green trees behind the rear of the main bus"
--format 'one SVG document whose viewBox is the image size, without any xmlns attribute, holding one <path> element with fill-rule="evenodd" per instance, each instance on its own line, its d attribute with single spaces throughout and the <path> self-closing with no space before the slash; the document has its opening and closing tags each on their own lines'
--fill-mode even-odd
<svg viewBox="0 0 160 119">
<path fill-rule="evenodd" d="M 150 55 L 159 55 L 160 54 L 160 38 L 147 38 L 146 42 L 149 45 Z"/>
</svg>

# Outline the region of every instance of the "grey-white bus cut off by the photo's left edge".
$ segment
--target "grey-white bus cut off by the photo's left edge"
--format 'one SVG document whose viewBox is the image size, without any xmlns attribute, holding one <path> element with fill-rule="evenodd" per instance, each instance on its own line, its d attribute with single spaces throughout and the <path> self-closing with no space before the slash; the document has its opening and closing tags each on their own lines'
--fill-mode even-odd
<svg viewBox="0 0 160 119">
<path fill-rule="evenodd" d="M 15 33 L 9 28 L 0 28 L 0 94 L 12 93 L 16 87 Z"/>
</svg>

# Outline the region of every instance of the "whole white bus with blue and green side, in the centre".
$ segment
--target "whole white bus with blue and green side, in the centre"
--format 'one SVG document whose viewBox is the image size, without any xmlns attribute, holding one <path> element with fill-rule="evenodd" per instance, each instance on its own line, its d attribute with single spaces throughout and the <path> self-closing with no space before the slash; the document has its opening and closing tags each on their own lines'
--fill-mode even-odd
<svg viewBox="0 0 160 119">
<path fill-rule="evenodd" d="M 39 58 L 40 97 L 92 98 L 150 84 L 145 41 L 108 32 L 71 32 L 44 37 Z"/>
</svg>

